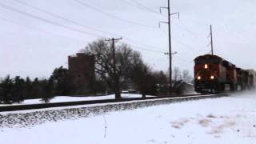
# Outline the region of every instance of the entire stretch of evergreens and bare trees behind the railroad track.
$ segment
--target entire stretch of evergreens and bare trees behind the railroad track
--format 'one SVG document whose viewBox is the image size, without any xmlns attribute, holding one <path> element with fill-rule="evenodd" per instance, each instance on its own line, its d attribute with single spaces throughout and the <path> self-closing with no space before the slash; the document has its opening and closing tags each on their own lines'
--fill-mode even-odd
<svg viewBox="0 0 256 144">
<path fill-rule="evenodd" d="M 95 57 L 96 78 L 92 86 L 73 82 L 69 70 L 61 66 L 53 71 L 50 78 L 2 78 L 0 102 L 22 102 L 31 98 L 42 98 L 44 102 L 49 102 L 57 95 L 115 94 L 115 98 L 121 98 L 122 90 L 134 90 L 142 97 L 169 93 L 168 75 L 152 70 L 142 61 L 141 54 L 125 43 L 116 46 L 115 59 L 111 44 L 103 39 L 89 43 L 82 52 Z M 173 74 L 174 82 L 191 79 L 187 70 L 181 72 L 175 68 Z"/>
</svg>

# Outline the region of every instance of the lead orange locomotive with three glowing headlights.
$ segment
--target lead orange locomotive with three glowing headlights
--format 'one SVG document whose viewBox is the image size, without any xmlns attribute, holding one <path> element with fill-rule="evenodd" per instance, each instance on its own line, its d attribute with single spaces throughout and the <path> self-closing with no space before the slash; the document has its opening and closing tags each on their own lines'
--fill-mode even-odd
<svg viewBox="0 0 256 144">
<path fill-rule="evenodd" d="M 196 92 L 218 93 L 225 90 L 227 69 L 223 58 L 206 54 L 198 56 L 194 59 L 194 62 L 194 90 Z M 226 63 L 226 65 L 231 64 Z"/>
</svg>

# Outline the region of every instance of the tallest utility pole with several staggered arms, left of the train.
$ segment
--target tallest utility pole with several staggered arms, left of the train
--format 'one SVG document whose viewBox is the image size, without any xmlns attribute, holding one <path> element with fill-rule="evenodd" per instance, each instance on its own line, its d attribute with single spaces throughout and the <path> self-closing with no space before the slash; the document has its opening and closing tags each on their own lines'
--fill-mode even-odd
<svg viewBox="0 0 256 144">
<path fill-rule="evenodd" d="M 168 24 L 168 34 L 169 34 L 169 82 L 170 82 L 170 95 L 172 94 L 172 51 L 171 51 L 171 30 L 170 30 L 170 17 L 171 15 L 178 14 L 179 18 L 179 13 L 170 13 L 170 0 L 168 0 L 168 6 L 167 7 L 160 7 L 160 13 L 162 13 L 162 9 L 168 10 L 168 22 L 159 22 L 159 27 L 161 26 L 161 23 L 166 23 Z M 174 53 L 176 54 L 176 53 Z"/>
</svg>

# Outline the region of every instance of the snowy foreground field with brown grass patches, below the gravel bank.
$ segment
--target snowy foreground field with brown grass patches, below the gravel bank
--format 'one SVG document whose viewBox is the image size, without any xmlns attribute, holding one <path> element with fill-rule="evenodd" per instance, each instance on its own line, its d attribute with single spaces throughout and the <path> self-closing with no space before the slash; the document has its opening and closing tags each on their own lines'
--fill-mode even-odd
<svg viewBox="0 0 256 144">
<path fill-rule="evenodd" d="M 256 92 L 0 128 L 2 144 L 254 144 Z"/>
</svg>

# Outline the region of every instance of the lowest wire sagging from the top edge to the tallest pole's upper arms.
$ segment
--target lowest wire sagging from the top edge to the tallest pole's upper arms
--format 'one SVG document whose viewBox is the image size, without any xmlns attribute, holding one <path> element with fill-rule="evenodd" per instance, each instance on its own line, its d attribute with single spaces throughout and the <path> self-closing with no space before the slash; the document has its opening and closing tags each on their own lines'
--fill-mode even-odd
<svg viewBox="0 0 256 144">
<path fill-rule="evenodd" d="M 93 6 L 90 6 L 90 5 L 86 4 L 85 2 L 81 2 L 81 1 L 79 1 L 79 0 L 74 0 L 74 1 L 75 1 L 75 2 L 78 2 L 78 3 L 81 4 L 82 6 L 86 6 L 86 7 L 89 7 L 90 9 L 92 9 L 92 10 L 98 11 L 98 12 L 101 13 L 101 14 L 105 14 L 105 15 L 107 15 L 107 16 L 110 17 L 110 18 L 115 18 L 115 19 L 118 19 L 118 20 L 120 20 L 120 21 L 122 21 L 122 22 L 130 23 L 130 24 L 137 25 L 137 26 L 142 26 L 142 27 L 146 27 L 146 28 L 158 29 L 157 26 L 146 26 L 146 25 L 143 25 L 143 24 L 138 23 L 138 22 L 133 22 L 133 21 L 129 21 L 129 20 L 126 20 L 126 19 L 123 19 L 123 18 L 119 18 L 119 17 L 117 17 L 117 16 L 115 16 L 115 15 L 113 15 L 113 14 L 106 13 L 106 12 L 103 11 L 103 10 L 99 10 L 98 8 L 95 8 L 95 7 L 93 7 Z"/>
</svg>

